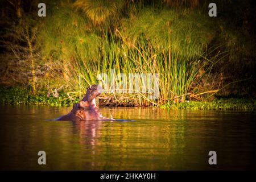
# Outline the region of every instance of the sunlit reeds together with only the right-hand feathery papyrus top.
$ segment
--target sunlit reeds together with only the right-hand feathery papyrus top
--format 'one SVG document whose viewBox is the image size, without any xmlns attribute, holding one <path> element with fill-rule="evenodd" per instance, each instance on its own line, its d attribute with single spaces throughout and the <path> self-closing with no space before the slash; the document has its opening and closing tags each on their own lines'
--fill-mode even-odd
<svg viewBox="0 0 256 182">
<path fill-rule="evenodd" d="M 67 67 L 69 77 L 73 78 L 70 84 L 76 90 L 73 94 L 78 94 L 79 89 L 85 93 L 86 86 L 98 82 L 99 73 L 110 75 L 112 69 L 115 78 L 119 73 L 126 77 L 129 73 L 159 75 L 158 100 L 148 100 L 148 93 L 126 94 L 138 105 L 159 105 L 167 100 L 180 102 L 192 92 L 192 84 L 203 76 L 199 76 L 199 71 L 206 65 L 203 53 L 212 39 L 210 22 L 203 15 L 197 18 L 196 13 L 185 10 L 164 10 L 159 14 L 146 9 L 144 12 L 133 22 L 121 20 L 121 27 L 98 37 L 101 44 L 98 55 L 94 55 L 96 59 L 90 59 L 86 51 L 79 51 L 73 45 L 77 49 Z"/>
</svg>

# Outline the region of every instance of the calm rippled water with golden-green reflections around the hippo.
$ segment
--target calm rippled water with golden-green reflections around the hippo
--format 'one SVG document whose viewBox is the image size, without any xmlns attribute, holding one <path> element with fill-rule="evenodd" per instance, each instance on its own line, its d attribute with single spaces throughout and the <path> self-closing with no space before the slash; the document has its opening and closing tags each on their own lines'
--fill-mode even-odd
<svg viewBox="0 0 256 182">
<path fill-rule="evenodd" d="M 0 169 L 204 170 L 255 168 L 256 114 L 100 108 L 133 122 L 47 121 L 71 107 L 1 106 Z M 46 165 L 38 151 L 46 151 Z M 210 166 L 208 152 L 217 152 Z"/>
</svg>

